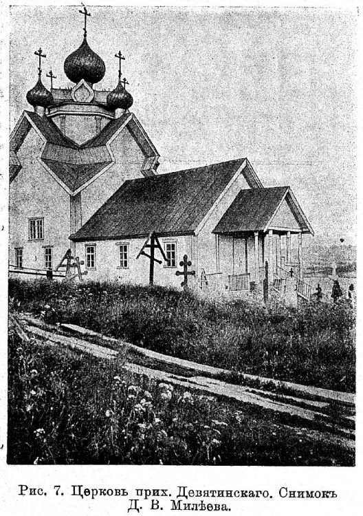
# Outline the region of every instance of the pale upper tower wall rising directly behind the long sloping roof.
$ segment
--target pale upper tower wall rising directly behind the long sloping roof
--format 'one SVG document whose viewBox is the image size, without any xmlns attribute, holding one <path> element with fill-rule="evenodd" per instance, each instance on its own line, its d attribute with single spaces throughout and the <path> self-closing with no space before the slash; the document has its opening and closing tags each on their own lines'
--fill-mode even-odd
<svg viewBox="0 0 363 516">
<path fill-rule="evenodd" d="M 115 163 L 82 191 L 82 224 L 128 179 L 142 178 L 145 156 L 128 129 L 111 143 Z"/>
</svg>

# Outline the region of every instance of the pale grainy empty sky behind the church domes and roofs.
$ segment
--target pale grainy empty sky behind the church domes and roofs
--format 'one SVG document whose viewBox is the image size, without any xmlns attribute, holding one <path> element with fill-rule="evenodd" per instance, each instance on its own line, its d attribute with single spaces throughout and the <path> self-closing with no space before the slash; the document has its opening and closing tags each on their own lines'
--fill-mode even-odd
<svg viewBox="0 0 363 516">
<path fill-rule="evenodd" d="M 10 10 L 10 128 L 36 83 L 55 87 L 83 39 L 78 6 Z M 355 244 L 356 25 L 352 8 L 89 7 L 87 41 L 122 67 L 159 173 L 246 157 L 264 186 L 292 187 L 326 244 Z"/>
</svg>

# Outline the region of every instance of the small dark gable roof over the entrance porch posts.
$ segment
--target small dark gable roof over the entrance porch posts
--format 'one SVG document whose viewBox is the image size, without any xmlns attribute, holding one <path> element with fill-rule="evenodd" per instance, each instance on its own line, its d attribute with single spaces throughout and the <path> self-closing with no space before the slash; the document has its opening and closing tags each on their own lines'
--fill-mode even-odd
<svg viewBox="0 0 363 516">
<path fill-rule="evenodd" d="M 213 233 L 267 231 L 285 198 L 302 232 L 314 235 L 289 186 L 241 190 Z"/>
</svg>

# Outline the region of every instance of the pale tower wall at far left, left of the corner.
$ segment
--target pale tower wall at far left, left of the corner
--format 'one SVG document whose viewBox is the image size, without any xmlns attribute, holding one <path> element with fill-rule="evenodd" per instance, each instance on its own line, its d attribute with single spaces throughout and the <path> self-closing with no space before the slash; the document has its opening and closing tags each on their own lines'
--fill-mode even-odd
<svg viewBox="0 0 363 516">
<path fill-rule="evenodd" d="M 20 247 L 23 266 L 37 269 L 44 268 L 44 246 L 53 246 L 57 265 L 70 244 L 69 195 L 37 160 L 42 145 L 43 140 L 31 129 L 17 152 L 23 168 L 10 184 L 9 206 L 10 264 L 15 263 L 14 248 Z M 30 218 L 44 219 L 43 240 L 29 241 Z"/>
</svg>

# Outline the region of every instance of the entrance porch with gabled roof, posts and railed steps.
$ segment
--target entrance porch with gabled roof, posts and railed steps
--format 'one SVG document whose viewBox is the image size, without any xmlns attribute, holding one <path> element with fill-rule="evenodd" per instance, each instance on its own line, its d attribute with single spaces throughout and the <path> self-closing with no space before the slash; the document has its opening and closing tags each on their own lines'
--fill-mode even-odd
<svg viewBox="0 0 363 516">
<path fill-rule="evenodd" d="M 289 187 L 241 191 L 213 233 L 215 270 L 202 271 L 202 289 L 310 299 L 303 233 L 313 232 Z"/>
</svg>

